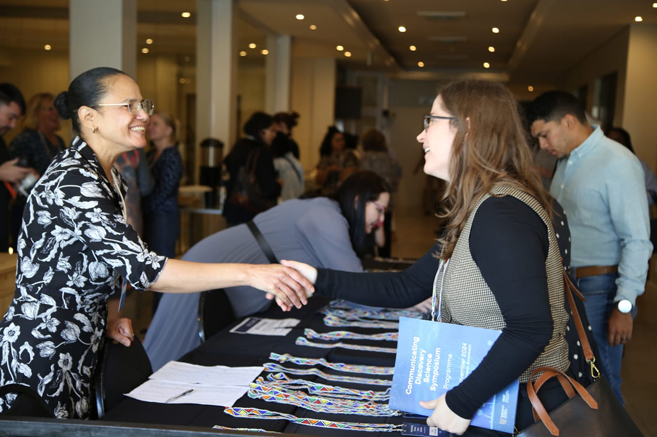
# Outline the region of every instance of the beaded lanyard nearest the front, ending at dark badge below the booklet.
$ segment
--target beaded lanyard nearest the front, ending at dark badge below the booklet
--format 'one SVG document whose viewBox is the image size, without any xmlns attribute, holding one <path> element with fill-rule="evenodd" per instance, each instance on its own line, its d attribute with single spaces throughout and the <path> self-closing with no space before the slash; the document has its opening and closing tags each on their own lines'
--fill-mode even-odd
<svg viewBox="0 0 657 437">
<path fill-rule="evenodd" d="M 393 425 L 392 423 L 357 423 L 357 422 L 334 422 L 319 419 L 309 419 L 308 417 L 296 417 L 291 414 L 277 413 L 260 408 L 239 408 L 226 407 L 223 410 L 233 417 L 244 417 L 247 419 L 271 419 L 286 420 L 298 425 L 308 425 L 309 427 L 346 429 L 353 431 L 373 431 L 373 432 L 392 432 L 404 429 L 404 425 Z"/>
</svg>

